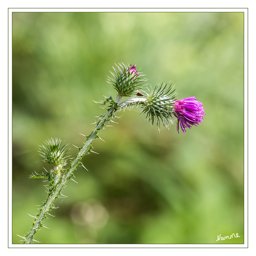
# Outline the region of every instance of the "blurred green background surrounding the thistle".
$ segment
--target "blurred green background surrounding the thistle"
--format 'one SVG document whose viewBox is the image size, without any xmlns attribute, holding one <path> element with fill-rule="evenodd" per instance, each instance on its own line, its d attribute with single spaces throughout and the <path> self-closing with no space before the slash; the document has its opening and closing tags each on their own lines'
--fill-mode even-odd
<svg viewBox="0 0 256 256">
<path fill-rule="evenodd" d="M 243 13 L 13 13 L 13 243 L 46 199 L 38 145 L 83 145 L 115 63 L 205 108 L 178 134 L 125 110 L 102 130 L 35 239 L 44 244 L 243 243 Z M 72 145 L 73 144 L 73 145 Z M 62 201 L 63 200 L 63 201 Z M 216 241 L 238 233 L 239 238 Z"/>
</svg>

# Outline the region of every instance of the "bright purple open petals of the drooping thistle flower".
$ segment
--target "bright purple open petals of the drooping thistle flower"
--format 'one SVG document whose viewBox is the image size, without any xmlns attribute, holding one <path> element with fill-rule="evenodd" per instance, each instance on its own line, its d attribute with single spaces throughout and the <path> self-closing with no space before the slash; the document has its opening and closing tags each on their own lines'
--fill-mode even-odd
<svg viewBox="0 0 256 256">
<path fill-rule="evenodd" d="M 189 97 L 175 101 L 173 105 L 174 116 L 177 117 L 177 131 L 179 126 L 183 133 L 186 134 L 185 127 L 191 129 L 192 125 L 198 126 L 203 122 L 204 108 L 203 104 L 195 97 Z"/>
</svg>

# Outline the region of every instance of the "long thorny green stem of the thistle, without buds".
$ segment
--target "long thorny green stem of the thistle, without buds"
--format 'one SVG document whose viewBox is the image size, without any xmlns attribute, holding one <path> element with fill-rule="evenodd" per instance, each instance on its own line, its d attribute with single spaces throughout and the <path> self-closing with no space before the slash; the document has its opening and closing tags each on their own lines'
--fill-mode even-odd
<svg viewBox="0 0 256 256">
<path fill-rule="evenodd" d="M 118 94 L 115 102 L 119 103 L 121 98 L 122 96 Z M 28 234 L 27 238 L 24 240 L 23 244 L 30 244 L 31 242 L 36 241 L 34 240 L 34 235 L 36 231 L 40 227 L 42 227 L 42 220 L 46 218 L 46 214 L 48 214 L 48 212 L 53 208 L 54 200 L 59 195 L 61 195 L 62 188 L 67 183 L 67 181 L 73 176 L 73 171 L 76 170 L 76 168 L 81 164 L 81 159 L 83 158 L 83 156 L 91 150 L 92 142 L 94 141 L 95 138 L 98 138 L 98 132 L 105 127 L 106 122 L 111 120 L 111 118 L 114 116 L 114 113 L 116 111 L 135 101 L 135 99 L 133 99 L 133 101 L 131 100 L 123 101 L 122 103 L 119 104 L 118 108 L 114 108 L 114 106 L 112 105 L 109 108 L 108 112 L 99 119 L 95 127 L 95 130 L 87 137 L 86 143 L 80 149 L 77 156 L 73 159 L 73 161 L 70 164 L 70 167 L 64 172 L 63 176 L 61 177 L 57 185 L 54 186 L 52 191 L 49 192 L 48 198 L 43 204 L 43 207 L 40 210 L 40 214 L 38 214 L 35 217 L 35 222 L 33 223 L 32 229 Z M 141 99 L 137 98 L 136 101 L 141 101 Z"/>
</svg>

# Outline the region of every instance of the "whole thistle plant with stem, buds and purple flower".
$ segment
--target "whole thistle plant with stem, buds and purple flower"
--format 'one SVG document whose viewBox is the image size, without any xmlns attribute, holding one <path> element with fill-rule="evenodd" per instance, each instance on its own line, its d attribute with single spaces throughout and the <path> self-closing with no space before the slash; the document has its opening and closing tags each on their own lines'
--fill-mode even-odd
<svg viewBox="0 0 256 256">
<path fill-rule="evenodd" d="M 42 178 L 47 182 L 48 197 L 43 204 L 38 208 L 39 213 L 34 218 L 30 232 L 22 237 L 23 244 L 30 244 L 36 241 L 34 236 L 36 232 L 43 227 L 42 221 L 51 215 L 49 212 L 56 209 L 54 201 L 58 197 L 65 197 L 61 194 L 62 189 L 67 186 L 68 180 L 73 180 L 74 171 L 77 167 L 84 167 L 82 158 L 92 151 L 92 142 L 99 138 L 99 132 L 107 126 L 108 123 L 114 122 L 114 117 L 117 111 L 125 108 L 136 106 L 141 109 L 141 113 L 146 116 L 148 121 L 153 126 L 156 122 L 158 129 L 161 125 L 170 128 L 173 120 L 177 122 L 177 131 L 179 128 L 186 134 L 185 128 L 191 129 L 193 125 L 198 126 L 203 122 L 204 108 L 201 102 L 195 97 L 177 100 L 176 90 L 171 83 L 162 83 L 148 89 L 147 79 L 142 73 L 136 70 L 135 65 L 123 63 L 116 65 L 114 72 L 111 74 L 113 78 L 108 77 L 114 89 L 117 90 L 117 97 L 115 100 L 112 97 L 105 97 L 104 101 L 98 102 L 105 105 L 106 113 L 99 116 L 98 121 L 95 122 L 95 129 L 89 136 L 86 137 L 81 148 L 78 148 L 77 155 L 74 158 L 67 156 L 67 145 L 64 145 L 60 139 L 48 139 L 40 146 L 40 155 L 43 161 L 50 164 L 52 168 L 46 173 L 35 173 L 30 178 Z M 121 102 L 123 97 L 130 97 Z M 67 167 L 68 159 L 70 165 Z M 86 167 L 84 167 L 86 169 Z M 86 169 L 87 170 L 87 169 Z M 30 215 L 31 216 L 31 215 Z M 36 241 L 38 242 L 38 241 Z"/>
</svg>

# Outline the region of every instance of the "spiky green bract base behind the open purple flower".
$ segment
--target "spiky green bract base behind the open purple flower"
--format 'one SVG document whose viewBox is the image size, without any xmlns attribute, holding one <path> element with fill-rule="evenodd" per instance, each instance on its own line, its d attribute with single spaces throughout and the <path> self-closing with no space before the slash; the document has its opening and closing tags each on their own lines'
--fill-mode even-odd
<svg viewBox="0 0 256 256">
<path fill-rule="evenodd" d="M 173 104 L 176 98 L 176 92 L 174 92 L 171 84 L 161 84 L 156 86 L 155 89 L 150 90 L 147 94 L 147 100 L 142 102 L 143 113 L 145 113 L 148 121 L 151 121 L 152 125 L 156 120 L 157 126 L 160 128 L 161 123 L 167 127 L 168 123 L 172 123 L 172 111 Z"/>
</svg>

